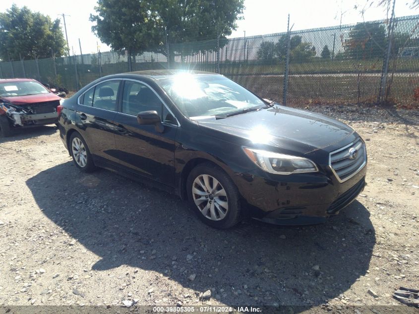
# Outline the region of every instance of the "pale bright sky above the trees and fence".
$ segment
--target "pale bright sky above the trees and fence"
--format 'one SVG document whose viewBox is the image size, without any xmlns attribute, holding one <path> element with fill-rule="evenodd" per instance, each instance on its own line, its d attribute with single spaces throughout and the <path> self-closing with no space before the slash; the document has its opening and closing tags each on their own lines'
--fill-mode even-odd
<svg viewBox="0 0 419 314">
<path fill-rule="evenodd" d="M 83 54 L 104 51 L 110 48 L 101 43 L 92 33 L 90 13 L 94 13 L 96 0 L 1 0 L 0 11 L 11 7 L 28 6 L 33 11 L 40 11 L 52 19 L 62 17 L 64 13 L 70 51 L 80 54 L 78 39 L 81 42 Z M 377 7 L 378 0 L 244 0 L 244 19 L 237 22 L 238 28 L 230 37 L 243 37 L 262 34 L 279 33 L 287 30 L 287 17 L 290 14 L 290 24 L 293 30 L 317 28 L 342 24 L 351 24 L 363 20 L 379 20 L 386 17 L 383 7 Z M 396 16 L 419 14 L 419 9 L 409 8 L 409 0 L 396 0 Z M 70 5 L 68 5 L 70 3 Z M 360 10 L 365 8 L 362 17 Z M 63 25 L 62 28 L 64 29 Z M 64 37 L 65 38 L 65 37 Z M 98 43 L 98 44 L 97 44 Z"/>
</svg>

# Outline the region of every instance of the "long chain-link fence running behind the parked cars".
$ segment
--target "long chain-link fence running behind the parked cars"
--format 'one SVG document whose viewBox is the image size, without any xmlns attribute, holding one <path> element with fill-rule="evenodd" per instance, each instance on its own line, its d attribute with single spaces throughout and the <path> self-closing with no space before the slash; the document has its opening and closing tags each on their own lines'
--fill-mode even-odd
<svg viewBox="0 0 419 314">
<path fill-rule="evenodd" d="M 78 90 L 104 75 L 182 68 L 221 73 L 287 105 L 390 102 L 417 107 L 419 15 L 261 36 L 165 43 L 128 57 L 105 52 L 0 63 L 0 77 Z"/>
</svg>

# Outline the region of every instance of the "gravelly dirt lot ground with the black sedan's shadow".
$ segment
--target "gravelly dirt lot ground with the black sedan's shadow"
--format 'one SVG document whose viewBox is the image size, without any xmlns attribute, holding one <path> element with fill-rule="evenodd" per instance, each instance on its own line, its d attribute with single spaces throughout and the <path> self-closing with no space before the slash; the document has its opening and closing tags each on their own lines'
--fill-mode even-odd
<svg viewBox="0 0 419 314">
<path fill-rule="evenodd" d="M 0 139 L 0 306 L 413 310 L 392 293 L 419 287 L 418 112 L 311 109 L 358 130 L 369 157 L 362 194 L 317 226 L 214 230 L 176 196 L 106 170 L 80 173 L 56 127 Z"/>
</svg>

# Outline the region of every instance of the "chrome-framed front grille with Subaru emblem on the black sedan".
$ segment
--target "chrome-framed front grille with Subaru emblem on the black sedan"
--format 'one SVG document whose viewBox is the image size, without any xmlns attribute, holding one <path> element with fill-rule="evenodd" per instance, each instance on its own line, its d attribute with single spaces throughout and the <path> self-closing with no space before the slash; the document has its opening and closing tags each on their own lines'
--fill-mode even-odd
<svg viewBox="0 0 419 314">
<path fill-rule="evenodd" d="M 354 158 L 351 151 L 357 150 Z M 340 182 L 355 176 L 366 164 L 364 142 L 359 138 L 356 142 L 330 153 L 329 165 Z"/>
</svg>

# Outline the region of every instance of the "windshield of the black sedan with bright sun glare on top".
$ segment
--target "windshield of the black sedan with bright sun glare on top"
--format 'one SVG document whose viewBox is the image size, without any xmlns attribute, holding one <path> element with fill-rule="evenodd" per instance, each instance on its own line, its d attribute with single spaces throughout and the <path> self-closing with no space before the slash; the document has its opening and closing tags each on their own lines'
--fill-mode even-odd
<svg viewBox="0 0 419 314">
<path fill-rule="evenodd" d="M 244 87 L 221 75 L 181 73 L 159 81 L 188 118 L 225 118 L 236 112 L 260 108 L 264 102 Z"/>
</svg>

